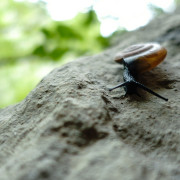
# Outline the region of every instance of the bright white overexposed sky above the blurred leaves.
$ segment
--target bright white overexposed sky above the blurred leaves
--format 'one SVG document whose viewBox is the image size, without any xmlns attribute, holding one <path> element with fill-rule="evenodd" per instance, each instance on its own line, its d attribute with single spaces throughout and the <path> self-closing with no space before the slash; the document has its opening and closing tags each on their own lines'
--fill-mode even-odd
<svg viewBox="0 0 180 180">
<path fill-rule="evenodd" d="M 38 0 L 29 0 L 36 2 Z M 90 7 L 96 11 L 101 22 L 101 34 L 109 36 L 117 29 L 129 31 L 146 25 L 153 17 L 148 7 L 153 4 L 165 12 L 175 9 L 174 0 L 42 0 L 46 2 L 51 17 L 57 21 L 69 20 L 78 12 Z"/>
</svg>

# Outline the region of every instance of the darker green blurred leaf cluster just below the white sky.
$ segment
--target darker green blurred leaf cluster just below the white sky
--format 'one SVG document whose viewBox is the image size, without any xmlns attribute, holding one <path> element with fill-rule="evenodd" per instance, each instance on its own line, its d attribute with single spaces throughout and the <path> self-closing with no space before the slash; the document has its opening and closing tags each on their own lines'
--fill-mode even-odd
<svg viewBox="0 0 180 180">
<path fill-rule="evenodd" d="M 109 45 L 109 39 L 100 35 L 100 23 L 93 10 L 79 13 L 66 22 L 52 22 L 41 29 L 43 41 L 33 54 L 59 60 L 64 55 L 70 57 L 99 52 Z"/>
</svg>

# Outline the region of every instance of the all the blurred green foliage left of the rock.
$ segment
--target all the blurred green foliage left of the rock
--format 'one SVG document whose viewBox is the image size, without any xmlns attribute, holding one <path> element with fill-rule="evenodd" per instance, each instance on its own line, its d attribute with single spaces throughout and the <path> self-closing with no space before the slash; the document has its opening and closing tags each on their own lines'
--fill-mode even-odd
<svg viewBox="0 0 180 180">
<path fill-rule="evenodd" d="M 58 22 L 41 2 L 1 0 L 0 27 L 0 107 L 22 100 L 45 74 L 67 59 L 109 45 L 109 38 L 100 35 L 93 10 Z"/>
</svg>

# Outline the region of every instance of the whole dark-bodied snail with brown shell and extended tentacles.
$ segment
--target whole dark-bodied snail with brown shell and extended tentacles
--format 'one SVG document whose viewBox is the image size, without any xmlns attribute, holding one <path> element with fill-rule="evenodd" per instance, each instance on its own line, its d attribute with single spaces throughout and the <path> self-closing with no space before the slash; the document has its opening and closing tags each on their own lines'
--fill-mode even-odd
<svg viewBox="0 0 180 180">
<path fill-rule="evenodd" d="M 124 87 L 126 94 L 136 94 L 140 96 L 137 92 L 137 87 L 139 87 L 168 101 L 167 98 L 162 97 L 136 80 L 139 74 L 149 71 L 161 63 L 165 59 L 166 54 L 167 50 L 158 43 L 136 44 L 123 50 L 117 54 L 115 61 L 124 65 L 124 82 L 109 90 L 112 91 L 116 88 Z"/>
</svg>

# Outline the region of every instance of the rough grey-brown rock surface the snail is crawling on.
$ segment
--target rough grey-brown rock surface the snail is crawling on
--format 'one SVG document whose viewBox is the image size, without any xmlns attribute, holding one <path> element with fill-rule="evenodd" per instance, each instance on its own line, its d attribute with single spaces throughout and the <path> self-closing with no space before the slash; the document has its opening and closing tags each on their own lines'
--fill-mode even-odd
<svg viewBox="0 0 180 180">
<path fill-rule="evenodd" d="M 53 70 L 0 110 L 0 180 L 179 180 L 180 13 L 117 37 L 119 44 Z M 140 81 L 169 98 L 124 97 L 120 49 L 158 41 L 166 60 Z"/>
</svg>

